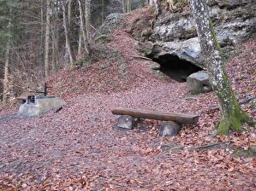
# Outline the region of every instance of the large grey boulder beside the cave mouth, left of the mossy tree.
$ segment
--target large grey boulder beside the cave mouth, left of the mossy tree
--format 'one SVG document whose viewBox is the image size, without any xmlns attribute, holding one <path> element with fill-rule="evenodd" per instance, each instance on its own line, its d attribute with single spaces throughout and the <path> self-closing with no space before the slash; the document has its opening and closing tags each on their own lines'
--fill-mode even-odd
<svg viewBox="0 0 256 191">
<path fill-rule="evenodd" d="M 187 85 L 192 94 L 207 93 L 212 90 L 209 75 L 203 71 L 195 72 L 188 76 Z"/>
</svg>

